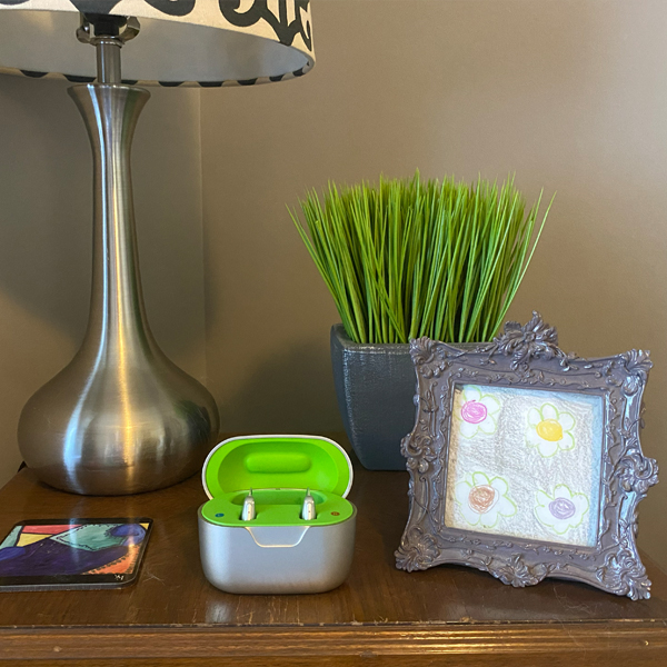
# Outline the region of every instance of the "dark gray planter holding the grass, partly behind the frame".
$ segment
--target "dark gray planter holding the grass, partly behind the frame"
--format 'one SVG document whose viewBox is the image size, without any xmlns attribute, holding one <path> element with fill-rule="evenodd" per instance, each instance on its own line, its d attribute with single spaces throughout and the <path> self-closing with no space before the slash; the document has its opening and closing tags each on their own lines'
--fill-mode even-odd
<svg viewBox="0 0 667 667">
<path fill-rule="evenodd" d="M 342 325 L 334 325 L 331 364 L 345 430 L 361 465 L 405 470 L 400 441 L 415 426 L 410 346 L 354 342 Z"/>
</svg>

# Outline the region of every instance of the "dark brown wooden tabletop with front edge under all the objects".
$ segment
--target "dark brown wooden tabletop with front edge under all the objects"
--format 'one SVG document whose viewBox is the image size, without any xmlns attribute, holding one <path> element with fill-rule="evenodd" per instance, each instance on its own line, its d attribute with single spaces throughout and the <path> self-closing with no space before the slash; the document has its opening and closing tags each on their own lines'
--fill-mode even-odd
<svg viewBox="0 0 667 667">
<path fill-rule="evenodd" d="M 0 491 L 2 536 L 37 518 L 148 516 L 155 526 L 128 588 L 1 593 L 0 665 L 667 665 L 667 577 L 650 561 L 653 597 L 637 603 L 554 579 L 515 589 L 462 567 L 397 570 L 407 484 L 356 462 L 355 561 L 338 589 L 237 596 L 201 571 L 199 477 L 104 498 L 56 491 L 23 469 Z"/>
</svg>

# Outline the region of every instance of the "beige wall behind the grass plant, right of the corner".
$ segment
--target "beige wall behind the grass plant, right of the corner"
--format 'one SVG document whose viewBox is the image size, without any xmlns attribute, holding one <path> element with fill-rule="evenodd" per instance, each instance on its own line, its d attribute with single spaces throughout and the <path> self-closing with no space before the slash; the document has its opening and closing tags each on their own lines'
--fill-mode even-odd
<svg viewBox="0 0 667 667">
<path fill-rule="evenodd" d="M 285 210 L 327 179 L 516 170 L 557 199 L 511 316 L 580 355 L 648 348 L 646 452 L 667 461 L 667 3 L 313 1 L 298 81 L 202 91 L 209 386 L 225 430 L 336 430 L 337 320 Z M 665 466 L 667 467 L 667 465 Z M 667 482 L 641 545 L 667 564 Z"/>
</svg>

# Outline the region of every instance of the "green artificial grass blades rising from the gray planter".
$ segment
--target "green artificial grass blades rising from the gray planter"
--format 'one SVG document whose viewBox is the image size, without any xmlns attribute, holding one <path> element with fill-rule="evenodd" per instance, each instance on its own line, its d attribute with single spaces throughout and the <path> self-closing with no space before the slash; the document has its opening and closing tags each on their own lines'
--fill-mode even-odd
<svg viewBox="0 0 667 667">
<path fill-rule="evenodd" d="M 502 323 L 549 212 L 526 213 L 514 177 L 500 187 L 452 178 L 329 183 L 291 211 L 356 342 L 490 340 Z M 535 236 L 535 239 L 534 239 Z"/>
</svg>

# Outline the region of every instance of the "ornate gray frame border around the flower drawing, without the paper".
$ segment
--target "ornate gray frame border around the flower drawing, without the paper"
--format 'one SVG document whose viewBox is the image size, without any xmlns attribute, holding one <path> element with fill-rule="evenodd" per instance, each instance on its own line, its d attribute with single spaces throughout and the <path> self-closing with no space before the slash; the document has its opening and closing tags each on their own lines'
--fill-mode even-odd
<svg viewBox="0 0 667 667">
<path fill-rule="evenodd" d="M 634 600 L 650 597 L 635 542 L 637 504 L 658 481 L 639 444 L 648 351 L 580 359 L 558 347 L 539 313 L 524 327 L 507 322 L 491 344 L 456 348 L 429 338 L 410 341 L 417 372 L 416 424 L 401 451 L 410 472 L 410 515 L 396 551 L 408 571 L 444 563 L 476 567 L 504 584 L 531 586 L 545 577 L 574 579 Z M 604 397 L 598 540 L 569 546 L 450 528 L 445 525 L 448 442 L 457 384 L 525 387 Z"/>
</svg>

